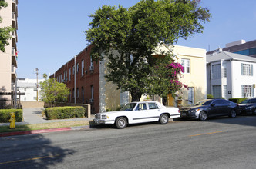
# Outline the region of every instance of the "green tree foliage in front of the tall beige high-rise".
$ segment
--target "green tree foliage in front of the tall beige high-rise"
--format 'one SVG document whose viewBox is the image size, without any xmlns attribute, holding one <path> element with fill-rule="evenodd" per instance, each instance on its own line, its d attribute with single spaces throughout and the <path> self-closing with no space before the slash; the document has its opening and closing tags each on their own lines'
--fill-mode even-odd
<svg viewBox="0 0 256 169">
<path fill-rule="evenodd" d="M 0 0 L 0 10 L 8 6 L 5 0 Z M 2 18 L 0 17 L 0 24 L 2 23 Z M 5 52 L 5 46 L 9 45 L 8 40 L 12 38 L 11 32 L 15 31 L 12 26 L 0 28 L 0 51 Z"/>
</svg>

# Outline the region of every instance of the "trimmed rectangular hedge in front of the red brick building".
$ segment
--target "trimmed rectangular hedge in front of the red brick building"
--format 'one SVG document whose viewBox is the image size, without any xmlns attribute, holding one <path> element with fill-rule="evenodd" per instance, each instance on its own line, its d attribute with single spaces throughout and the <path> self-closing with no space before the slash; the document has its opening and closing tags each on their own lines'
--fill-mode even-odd
<svg viewBox="0 0 256 169">
<path fill-rule="evenodd" d="M 49 120 L 66 118 L 85 117 L 86 108 L 82 106 L 65 106 L 55 108 L 45 108 L 45 115 Z"/>
</svg>

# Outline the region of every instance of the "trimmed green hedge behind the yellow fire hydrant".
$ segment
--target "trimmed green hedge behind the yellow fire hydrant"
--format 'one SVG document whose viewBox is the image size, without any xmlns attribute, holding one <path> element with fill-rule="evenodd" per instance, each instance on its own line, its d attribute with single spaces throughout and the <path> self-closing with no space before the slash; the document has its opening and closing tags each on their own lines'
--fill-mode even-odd
<svg viewBox="0 0 256 169">
<path fill-rule="evenodd" d="M 8 123 L 12 112 L 15 113 L 15 122 L 23 121 L 22 109 L 0 109 L 0 123 Z"/>
</svg>

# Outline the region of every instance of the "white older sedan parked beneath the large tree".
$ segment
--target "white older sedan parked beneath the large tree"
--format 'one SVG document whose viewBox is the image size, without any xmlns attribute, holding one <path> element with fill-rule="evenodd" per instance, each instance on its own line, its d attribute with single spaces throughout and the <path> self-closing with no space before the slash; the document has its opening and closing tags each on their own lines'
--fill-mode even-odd
<svg viewBox="0 0 256 169">
<path fill-rule="evenodd" d="M 179 108 L 167 108 L 157 101 L 142 101 L 126 104 L 120 111 L 95 114 L 96 124 L 115 124 L 116 128 L 126 128 L 127 124 L 159 121 L 167 124 L 169 118 L 179 118 Z"/>
</svg>

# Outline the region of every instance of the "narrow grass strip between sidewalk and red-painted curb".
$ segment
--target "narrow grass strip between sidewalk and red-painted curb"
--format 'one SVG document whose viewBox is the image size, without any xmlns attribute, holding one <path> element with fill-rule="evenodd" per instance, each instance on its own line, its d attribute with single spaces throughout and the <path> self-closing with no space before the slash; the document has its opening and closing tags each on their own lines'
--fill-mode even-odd
<svg viewBox="0 0 256 169">
<path fill-rule="evenodd" d="M 15 125 L 14 129 L 10 129 L 9 126 L 0 126 L 0 133 L 13 131 L 35 131 L 49 128 L 67 128 L 85 125 L 89 125 L 89 121 L 62 121 L 42 124 Z"/>
</svg>

